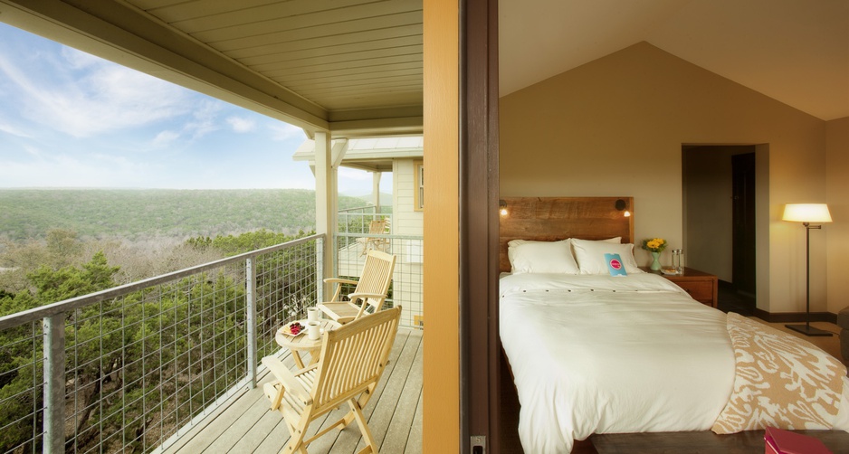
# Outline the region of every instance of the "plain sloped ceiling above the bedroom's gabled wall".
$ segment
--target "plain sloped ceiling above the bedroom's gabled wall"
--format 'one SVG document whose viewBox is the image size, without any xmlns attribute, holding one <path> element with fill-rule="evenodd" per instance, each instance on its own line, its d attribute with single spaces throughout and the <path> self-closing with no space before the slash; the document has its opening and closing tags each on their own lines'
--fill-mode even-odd
<svg viewBox="0 0 849 454">
<path fill-rule="evenodd" d="M 501 96 L 648 42 L 816 118 L 849 117 L 849 0 L 501 0 Z"/>
</svg>

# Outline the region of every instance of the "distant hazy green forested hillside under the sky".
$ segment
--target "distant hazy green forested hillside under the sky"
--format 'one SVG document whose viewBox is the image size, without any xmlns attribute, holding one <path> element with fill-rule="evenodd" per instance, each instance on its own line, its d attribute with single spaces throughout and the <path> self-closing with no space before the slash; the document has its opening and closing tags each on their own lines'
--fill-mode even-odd
<svg viewBox="0 0 849 454">
<path fill-rule="evenodd" d="M 340 209 L 363 200 L 339 197 Z M 0 190 L 0 239 L 43 239 L 52 229 L 82 238 L 184 240 L 266 229 L 315 229 L 315 192 L 301 189 Z"/>
</svg>

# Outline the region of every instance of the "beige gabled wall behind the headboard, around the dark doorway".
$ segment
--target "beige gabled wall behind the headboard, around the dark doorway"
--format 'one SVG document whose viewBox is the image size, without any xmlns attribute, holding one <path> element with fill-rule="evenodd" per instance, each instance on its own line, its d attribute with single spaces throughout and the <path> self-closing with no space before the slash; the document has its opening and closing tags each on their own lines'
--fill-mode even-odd
<svg viewBox="0 0 849 454">
<path fill-rule="evenodd" d="M 767 168 L 758 157 L 768 172 L 758 188 L 758 307 L 805 310 L 805 235 L 781 213 L 784 203 L 825 201 L 825 121 L 648 43 L 511 93 L 500 109 L 502 196 L 631 195 L 637 241 L 661 236 L 673 248 L 683 236 L 682 144 L 768 150 Z M 817 311 L 825 241 L 814 237 Z"/>
</svg>

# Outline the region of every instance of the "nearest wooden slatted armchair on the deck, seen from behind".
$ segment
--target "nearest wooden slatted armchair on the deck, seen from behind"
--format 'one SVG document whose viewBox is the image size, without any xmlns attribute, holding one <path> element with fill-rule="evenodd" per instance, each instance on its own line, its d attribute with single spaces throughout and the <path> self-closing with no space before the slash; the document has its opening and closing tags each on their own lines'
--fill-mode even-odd
<svg viewBox="0 0 849 454">
<path fill-rule="evenodd" d="M 363 407 L 386 368 L 400 318 L 401 307 L 394 307 L 326 331 L 319 362 L 294 372 L 274 356 L 262 358 L 262 364 L 278 380 L 266 383 L 263 391 L 272 402 L 272 410 L 281 412 L 291 434 L 281 452 L 306 453 L 312 441 L 357 421 L 366 443 L 366 449 L 360 452 L 377 454 Z M 311 421 L 345 403 L 350 408 L 345 417 L 304 440 Z"/>
</svg>

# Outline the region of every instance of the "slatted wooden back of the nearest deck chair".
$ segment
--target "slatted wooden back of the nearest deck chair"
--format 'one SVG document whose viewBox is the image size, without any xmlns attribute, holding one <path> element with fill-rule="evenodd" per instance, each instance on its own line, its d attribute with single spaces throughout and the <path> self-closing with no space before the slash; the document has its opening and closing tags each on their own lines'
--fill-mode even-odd
<svg viewBox="0 0 849 454">
<path fill-rule="evenodd" d="M 314 411 L 336 407 L 377 383 L 395 342 L 401 307 L 360 317 L 324 334 L 312 389 Z"/>
</svg>

